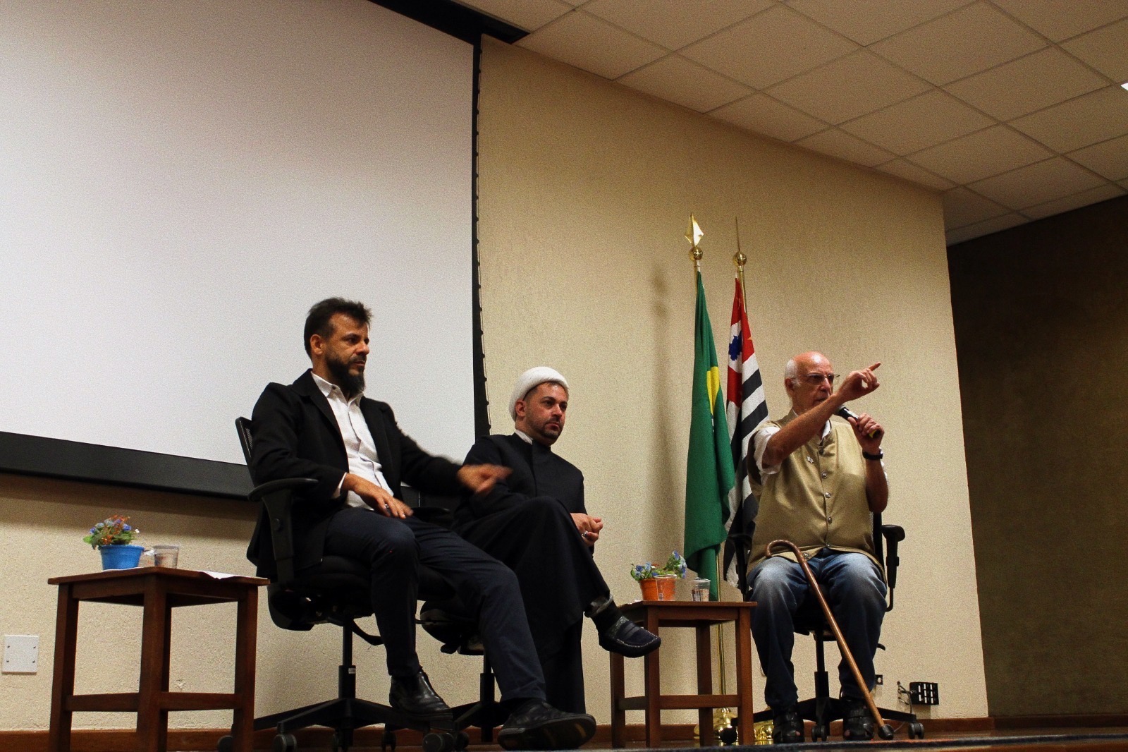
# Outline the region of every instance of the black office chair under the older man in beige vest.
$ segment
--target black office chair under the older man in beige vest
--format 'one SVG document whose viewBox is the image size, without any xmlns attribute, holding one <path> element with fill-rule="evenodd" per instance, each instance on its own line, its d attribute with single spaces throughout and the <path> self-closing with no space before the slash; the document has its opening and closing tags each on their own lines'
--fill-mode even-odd
<svg viewBox="0 0 1128 752">
<path fill-rule="evenodd" d="M 746 532 L 730 536 L 737 546 L 737 570 L 740 572 L 740 592 L 747 601 L 750 597 L 748 588 L 748 560 L 755 524 L 750 524 Z M 897 587 L 897 567 L 900 565 L 900 557 L 897 556 L 897 544 L 905 540 L 905 528 L 900 525 L 882 525 L 881 515 L 873 515 L 873 546 L 878 560 L 884 559 L 885 582 L 889 585 L 889 603 L 885 611 L 893 609 L 893 589 Z M 830 735 L 830 722 L 841 720 L 845 717 L 845 702 L 838 698 L 830 697 L 830 676 L 827 673 L 826 650 L 827 642 L 834 642 L 835 636 L 822 615 L 818 598 L 808 597 L 795 613 L 795 632 L 799 635 L 810 635 L 814 638 L 814 697 L 799 703 L 799 715 L 804 720 L 814 724 L 811 728 L 812 742 L 826 742 Z M 882 650 L 884 645 L 878 644 Z M 924 726 L 917 722 L 916 714 L 893 710 L 890 708 L 878 708 L 884 720 L 900 722 L 908 724 L 909 738 L 924 738 Z M 755 722 L 772 720 L 772 710 L 761 710 L 752 716 Z M 735 722 L 733 722 L 735 725 Z M 748 744 L 749 741 L 741 740 Z"/>
</svg>

